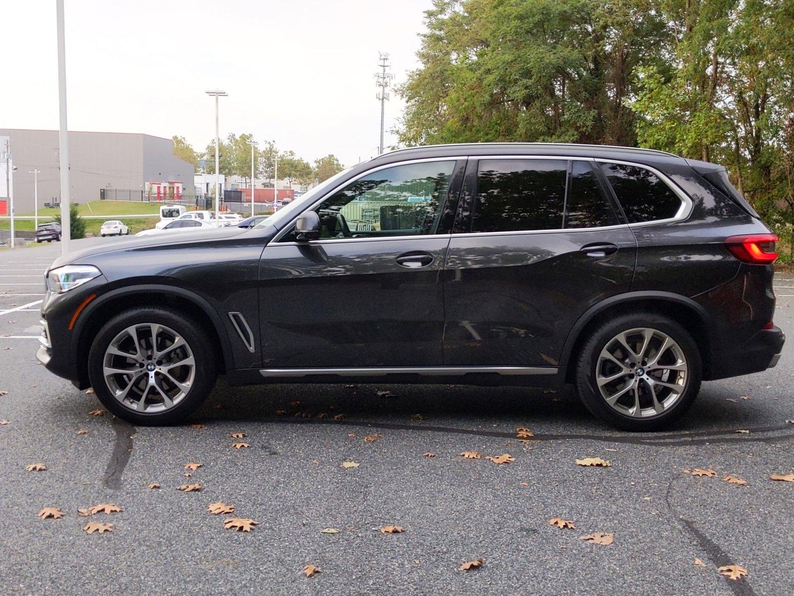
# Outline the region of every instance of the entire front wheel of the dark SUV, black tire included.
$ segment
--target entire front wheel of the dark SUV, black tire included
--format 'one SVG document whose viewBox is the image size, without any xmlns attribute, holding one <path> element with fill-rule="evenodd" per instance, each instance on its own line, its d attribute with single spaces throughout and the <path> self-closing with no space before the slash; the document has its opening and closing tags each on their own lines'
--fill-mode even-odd
<svg viewBox="0 0 794 596">
<path fill-rule="evenodd" d="M 152 357 L 152 325 L 156 326 L 163 359 L 157 359 L 156 354 Z M 136 342 L 130 329 L 137 338 L 137 355 L 133 354 Z M 183 345 L 173 347 L 177 338 Z M 115 351 L 108 353 L 111 343 Z M 143 426 L 177 424 L 195 412 L 215 385 L 211 346 L 206 331 L 190 317 L 167 308 L 133 308 L 110 319 L 98 332 L 88 355 L 88 376 L 99 401 L 122 420 Z M 106 364 L 130 373 L 106 377 Z M 137 403 L 141 397 L 142 405 Z"/>
</svg>

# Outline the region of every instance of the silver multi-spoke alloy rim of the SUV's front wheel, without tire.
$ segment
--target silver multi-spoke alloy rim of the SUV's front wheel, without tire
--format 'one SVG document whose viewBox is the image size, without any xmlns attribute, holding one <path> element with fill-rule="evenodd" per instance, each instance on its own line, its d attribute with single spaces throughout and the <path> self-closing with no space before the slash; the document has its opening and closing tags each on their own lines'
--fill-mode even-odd
<svg viewBox="0 0 794 596">
<path fill-rule="evenodd" d="M 196 365 L 191 347 L 170 327 L 137 323 L 110 342 L 102 377 L 110 393 L 133 412 L 154 414 L 175 407 L 190 392 Z"/>
</svg>

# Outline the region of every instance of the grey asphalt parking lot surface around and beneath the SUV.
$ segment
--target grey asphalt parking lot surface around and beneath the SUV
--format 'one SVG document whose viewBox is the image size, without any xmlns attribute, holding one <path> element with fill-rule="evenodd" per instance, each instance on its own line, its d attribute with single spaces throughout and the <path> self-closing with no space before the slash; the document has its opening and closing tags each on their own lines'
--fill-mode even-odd
<svg viewBox="0 0 794 596">
<path fill-rule="evenodd" d="M 115 241 L 74 244 L 91 242 Z M 0 594 L 794 592 L 794 482 L 770 479 L 794 473 L 794 274 L 775 282 L 789 338 L 777 367 L 704 383 L 669 432 L 607 428 L 570 389 L 222 381 L 200 428 L 134 428 L 91 416 L 93 395 L 37 364 L 58 254 L 0 252 Z M 587 457 L 611 466 L 576 465 Z M 35 462 L 47 470 L 25 470 Z M 211 514 L 216 501 L 233 516 Z M 123 511 L 79 517 L 101 503 Z M 64 517 L 37 517 L 48 506 Z M 224 529 L 235 516 L 259 524 Z M 404 531 L 380 532 L 392 524 Z M 595 532 L 614 543 L 580 540 Z M 727 579 L 728 565 L 749 575 Z"/>
</svg>

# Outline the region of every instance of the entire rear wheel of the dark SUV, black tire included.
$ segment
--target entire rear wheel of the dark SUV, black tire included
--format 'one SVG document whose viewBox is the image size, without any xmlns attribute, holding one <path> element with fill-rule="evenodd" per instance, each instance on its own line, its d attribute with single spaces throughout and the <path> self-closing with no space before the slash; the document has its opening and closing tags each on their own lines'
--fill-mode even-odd
<svg viewBox="0 0 794 596">
<path fill-rule="evenodd" d="M 665 337 L 670 343 L 665 344 Z M 646 350 L 638 357 L 643 343 Z M 663 346 L 669 347 L 657 354 Z M 619 315 L 603 323 L 576 358 L 581 401 L 593 415 L 624 431 L 657 431 L 678 420 L 695 401 L 702 377 L 700 350 L 692 335 L 673 319 L 654 313 Z M 616 400 L 614 405 L 607 397 Z"/>
</svg>

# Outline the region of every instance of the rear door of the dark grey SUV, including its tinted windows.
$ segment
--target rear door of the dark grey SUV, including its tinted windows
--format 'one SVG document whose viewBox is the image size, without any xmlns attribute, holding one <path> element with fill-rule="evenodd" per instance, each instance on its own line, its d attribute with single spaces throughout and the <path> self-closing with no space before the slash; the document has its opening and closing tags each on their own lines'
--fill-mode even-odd
<svg viewBox="0 0 794 596">
<path fill-rule="evenodd" d="M 580 315 L 629 290 L 636 253 L 592 160 L 470 159 L 444 272 L 445 366 L 553 372 Z"/>
</svg>

